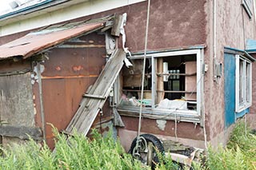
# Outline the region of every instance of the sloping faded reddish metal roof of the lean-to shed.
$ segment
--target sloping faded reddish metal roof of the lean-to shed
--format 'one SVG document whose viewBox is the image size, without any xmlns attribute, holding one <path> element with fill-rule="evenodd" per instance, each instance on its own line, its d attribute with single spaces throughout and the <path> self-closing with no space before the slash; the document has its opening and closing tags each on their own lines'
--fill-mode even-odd
<svg viewBox="0 0 256 170">
<path fill-rule="evenodd" d="M 43 30 L 26 34 L 13 42 L 0 46 L 0 60 L 9 57 L 31 57 L 44 49 L 49 49 L 55 45 L 62 44 L 70 38 L 76 38 L 79 35 L 99 30 L 104 26 L 104 22 L 85 23 L 76 22 L 59 26 L 50 26 Z"/>
</svg>

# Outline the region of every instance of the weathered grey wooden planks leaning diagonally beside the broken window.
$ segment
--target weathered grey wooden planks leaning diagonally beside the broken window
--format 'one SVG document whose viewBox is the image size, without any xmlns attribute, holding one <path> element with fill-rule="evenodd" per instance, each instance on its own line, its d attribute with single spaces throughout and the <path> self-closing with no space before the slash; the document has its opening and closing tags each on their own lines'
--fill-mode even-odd
<svg viewBox="0 0 256 170">
<path fill-rule="evenodd" d="M 109 96 L 110 89 L 112 88 L 115 79 L 118 77 L 118 73 L 122 69 L 125 57 L 126 53 L 123 49 L 116 49 L 114 51 L 109 61 L 106 62 L 102 73 L 98 76 L 98 79 L 88 92 L 91 96 L 101 96 L 105 97 L 105 99 L 86 97 L 86 99 L 82 100 L 77 113 L 75 113 L 70 124 L 66 127 L 66 132 L 72 133 L 74 129 L 76 129 L 86 136 L 97 117 L 98 112 L 106 102 L 106 98 Z"/>
</svg>

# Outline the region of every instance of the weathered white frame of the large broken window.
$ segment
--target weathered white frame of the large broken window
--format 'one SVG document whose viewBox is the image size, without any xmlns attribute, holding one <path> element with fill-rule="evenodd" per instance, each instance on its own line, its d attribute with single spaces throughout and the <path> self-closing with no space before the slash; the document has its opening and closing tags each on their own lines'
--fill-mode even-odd
<svg viewBox="0 0 256 170">
<path fill-rule="evenodd" d="M 174 57 L 174 56 L 181 56 L 181 55 L 190 55 L 194 54 L 196 56 L 196 62 L 197 62 L 197 109 L 194 110 L 182 110 L 182 109 L 158 109 L 155 108 L 154 105 L 151 105 L 150 108 L 146 108 L 145 114 L 150 114 L 150 115 L 168 115 L 172 118 L 170 120 L 174 120 L 177 117 L 179 118 L 179 121 L 187 121 L 187 122 L 194 122 L 194 123 L 200 123 L 200 125 L 203 125 L 203 120 L 204 120 L 204 114 L 203 114 L 203 107 L 202 107 L 202 102 L 203 102 L 203 82 L 204 82 L 204 50 L 203 49 L 183 49 L 183 50 L 174 50 L 174 51 L 169 51 L 169 52 L 158 52 L 158 53 L 149 53 L 146 55 L 146 58 L 151 59 L 151 65 L 152 65 L 152 82 L 151 82 L 151 100 L 152 103 L 155 103 L 156 97 L 157 97 L 157 73 L 156 73 L 156 68 L 155 65 L 157 64 L 157 59 L 158 57 Z M 134 59 L 142 59 L 143 55 L 132 55 L 132 57 L 129 57 L 129 59 L 134 60 Z M 136 112 L 134 109 L 131 109 L 131 107 L 122 107 L 120 111 L 123 112 Z M 176 117 L 177 116 L 177 117 Z M 165 117 L 162 117 L 165 118 Z M 166 117 L 167 118 L 167 117 Z"/>
</svg>

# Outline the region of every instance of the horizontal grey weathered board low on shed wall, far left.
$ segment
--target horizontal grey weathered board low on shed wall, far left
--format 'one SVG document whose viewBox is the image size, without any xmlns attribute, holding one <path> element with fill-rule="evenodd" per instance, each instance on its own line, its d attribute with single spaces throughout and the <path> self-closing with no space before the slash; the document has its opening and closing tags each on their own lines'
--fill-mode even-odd
<svg viewBox="0 0 256 170">
<path fill-rule="evenodd" d="M 42 140 L 42 131 L 38 127 L 0 125 L 0 135 L 8 137 L 18 137 L 22 140 L 27 140 L 30 137 L 34 140 Z"/>
</svg>

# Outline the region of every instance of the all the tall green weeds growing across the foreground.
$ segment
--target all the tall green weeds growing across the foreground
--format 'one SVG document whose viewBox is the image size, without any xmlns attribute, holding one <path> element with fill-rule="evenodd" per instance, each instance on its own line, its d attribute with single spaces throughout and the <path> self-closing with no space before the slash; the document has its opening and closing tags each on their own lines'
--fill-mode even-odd
<svg viewBox="0 0 256 170">
<path fill-rule="evenodd" d="M 12 145 L 2 149 L 0 169 L 150 169 L 127 154 L 111 133 L 102 138 L 94 130 L 94 140 L 79 134 L 66 140 L 66 136 L 56 130 L 54 133 L 58 140 L 54 152 L 46 144 L 33 140 L 22 146 Z M 170 157 L 159 157 L 156 169 L 179 169 Z M 194 163 L 193 167 L 198 170 L 256 169 L 256 136 L 239 123 L 225 148 L 209 147 L 202 162 Z"/>
</svg>

